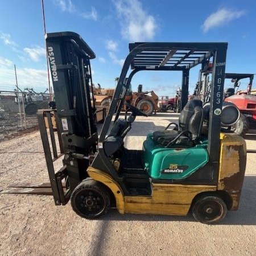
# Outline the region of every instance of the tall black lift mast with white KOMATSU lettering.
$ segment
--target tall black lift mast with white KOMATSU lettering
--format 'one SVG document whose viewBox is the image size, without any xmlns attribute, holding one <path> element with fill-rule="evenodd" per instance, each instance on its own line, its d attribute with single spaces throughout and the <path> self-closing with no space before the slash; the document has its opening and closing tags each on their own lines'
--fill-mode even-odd
<svg viewBox="0 0 256 256">
<path fill-rule="evenodd" d="M 46 48 L 55 93 L 56 118 L 65 154 L 60 176 L 64 174 L 66 183 L 68 182 L 72 190 L 81 179 L 85 179 L 84 170 L 90 164 L 90 155 L 97 150 L 96 110 L 93 105 L 93 93 L 90 93 L 90 86 L 93 84 L 90 59 L 96 56 L 74 32 L 46 34 Z M 40 122 L 43 122 L 40 114 L 39 120 L 40 125 Z M 42 135 L 46 133 L 41 126 L 43 127 L 43 123 L 40 125 L 40 132 L 43 144 L 47 145 L 46 136 Z M 51 159 L 48 163 L 51 163 Z M 50 172 L 53 176 L 51 185 L 56 187 L 55 175 L 51 169 L 52 166 L 49 164 L 50 180 Z M 56 195 L 57 193 L 53 192 L 55 199 L 58 197 Z M 59 201 L 55 200 L 55 203 Z"/>
</svg>

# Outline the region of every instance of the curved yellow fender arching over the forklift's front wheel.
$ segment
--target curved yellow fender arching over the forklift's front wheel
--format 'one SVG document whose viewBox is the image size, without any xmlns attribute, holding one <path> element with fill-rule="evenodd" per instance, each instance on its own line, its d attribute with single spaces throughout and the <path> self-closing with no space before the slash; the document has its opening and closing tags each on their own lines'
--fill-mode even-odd
<svg viewBox="0 0 256 256">
<path fill-rule="evenodd" d="M 124 200 L 122 189 L 119 187 L 117 181 L 113 179 L 112 176 L 107 174 L 106 172 L 102 172 L 93 167 L 88 167 L 87 169 L 88 175 L 92 177 L 92 179 L 100 181 L 105 184 L 112 192 L 115 197 L 115 201 L 117 203 L 117 209 L 119 213 L 124 213 Z"/>
</svg>

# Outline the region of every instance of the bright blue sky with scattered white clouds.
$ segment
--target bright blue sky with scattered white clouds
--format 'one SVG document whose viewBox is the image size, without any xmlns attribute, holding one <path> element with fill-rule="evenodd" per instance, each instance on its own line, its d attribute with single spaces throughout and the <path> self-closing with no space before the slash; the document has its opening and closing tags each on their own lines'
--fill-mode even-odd
<svg viewBox="0 0 256 256">
<path fill-rule="evenodd" d="M 41 0 L 0 4 L 0 90 L 14 89 L 15 64 L 20 88 L 42 92 L 48 82 Z M 47 32 L 77 32 L 96 53 L 93 82 L 104 88 L 114 87 L 130 42 L 228 42 L 226 72 L 256 73 L 256 1 L 44 0 L 44 8 Z M 198 71 L 191 71 L 191 92 Z M 171 96 L 180 82 L 180 72 L 146 71 L 132 85 Z"/>
</svg>

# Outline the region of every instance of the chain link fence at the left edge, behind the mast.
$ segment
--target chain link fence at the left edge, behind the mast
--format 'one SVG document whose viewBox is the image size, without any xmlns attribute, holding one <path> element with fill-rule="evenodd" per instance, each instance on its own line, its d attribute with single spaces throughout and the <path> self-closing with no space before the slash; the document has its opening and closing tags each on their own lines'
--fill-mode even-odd
<svg viewBox="0 0 256 256">
<path fill-rule="evenodd" d="M 36 112 L 48 102 L 49 94 L 0 91 L 0 141 L 37 127 Z"/>
</svg>

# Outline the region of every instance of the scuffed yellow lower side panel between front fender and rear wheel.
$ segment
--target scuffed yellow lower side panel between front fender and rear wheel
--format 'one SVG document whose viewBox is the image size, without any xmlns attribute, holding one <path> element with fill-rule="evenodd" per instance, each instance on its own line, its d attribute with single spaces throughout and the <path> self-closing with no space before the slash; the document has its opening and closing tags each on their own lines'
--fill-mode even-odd
<svg viewBox="0 0 256 256">
<path fill-rule="evenodd" d="M 216 186 L 152 183 L 151 196 L 125 196 L 125 212 L 186 215 L 193 198 L 207 191 L 216 191 Z"/>
</svg>

